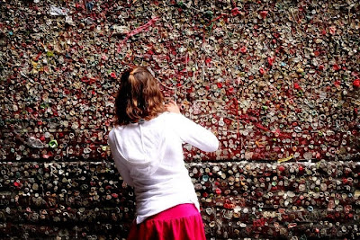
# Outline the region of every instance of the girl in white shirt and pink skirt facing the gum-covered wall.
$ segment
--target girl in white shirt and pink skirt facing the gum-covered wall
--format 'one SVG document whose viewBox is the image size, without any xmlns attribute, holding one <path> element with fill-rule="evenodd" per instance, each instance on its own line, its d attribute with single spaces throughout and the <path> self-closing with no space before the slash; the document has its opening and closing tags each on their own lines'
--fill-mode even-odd
<svg viewBox="0 0 360 240">
<path fill-rule="evenodd" d="M 183 143 L 213 152 L 218 139 L 164 103 L 145 67 L 121 76 L 109 145 L 124 182 L 134 187 L 137 217 L 128 240 L 205 240 L 199 201 L 184 166 Z"/>
</svg>

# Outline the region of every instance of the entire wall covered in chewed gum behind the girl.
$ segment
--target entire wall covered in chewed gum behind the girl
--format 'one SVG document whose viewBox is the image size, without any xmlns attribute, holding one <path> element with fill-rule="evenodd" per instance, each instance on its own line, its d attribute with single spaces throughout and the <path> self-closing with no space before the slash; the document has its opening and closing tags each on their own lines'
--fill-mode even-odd
<svg viewBox="0 0 360 240">
<path fill-rule="evenodd" d="M 0 237 L 126 236 L 107 134 L 148 67 L 220 149 L 184 145 L 209 239 L 359 238 L 358 1 L 0 2 Z"/>
</svg>

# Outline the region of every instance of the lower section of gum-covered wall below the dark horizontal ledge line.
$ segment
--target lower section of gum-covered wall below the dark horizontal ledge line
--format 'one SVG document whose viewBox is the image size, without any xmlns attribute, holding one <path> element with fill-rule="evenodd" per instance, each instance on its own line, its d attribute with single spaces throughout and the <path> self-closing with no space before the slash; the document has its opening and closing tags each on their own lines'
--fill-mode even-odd
<svg viewBox="0 0 360 240">
<path fill-rule="evenodd" d="M 187 168 L 208 239 L 360 236 L 358 162 Z M 109 162 L 3 163 L 0 172 L 1 239 L 122 239 L 129 232 L 133 191 Z"/>
</svg>

